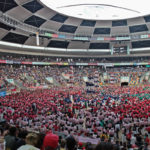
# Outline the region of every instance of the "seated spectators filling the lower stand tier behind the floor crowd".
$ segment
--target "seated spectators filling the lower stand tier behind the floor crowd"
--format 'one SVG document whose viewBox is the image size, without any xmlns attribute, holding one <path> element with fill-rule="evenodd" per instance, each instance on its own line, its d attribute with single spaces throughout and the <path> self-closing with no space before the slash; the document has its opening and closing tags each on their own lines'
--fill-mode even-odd
<svg viewBox="0 0 150 150">
<path fill-rule="evenodd" d="M 51 83 L 46 78 L 51 77 L 53 81 L 59 83 L 60 86 L 67 86 L 70 82 L 70 77 L 73 77 L 73 86 L 85 87 L 84 77 L 97 78 L 103 84 L 120 84 L 121 77 L 129 77 L 129 84 L 136 85 L 140 82 L 147 84 L 147 80 L 142 76 L 149 72 L 146 67 L 120 67 L 106 68 L 99 66 L 74 66 L 71 74 L 69 66 L 38 66 L 38 65 L 0 65 L 0 90 L 17 88 L 16 84 L 12 85 L 7 79 L 13 79 L 17 85 L 22 87 L 37 87 L 50 86 Z M 104 73 L 107 75 L 107 82 L 104 79 Z M 64 76 L 68 76 L 65 78 Z M 96 77 L 97 76 L 97 77 Z M 148 77 L 149 78 L 149 77 Z"/>
</svg>

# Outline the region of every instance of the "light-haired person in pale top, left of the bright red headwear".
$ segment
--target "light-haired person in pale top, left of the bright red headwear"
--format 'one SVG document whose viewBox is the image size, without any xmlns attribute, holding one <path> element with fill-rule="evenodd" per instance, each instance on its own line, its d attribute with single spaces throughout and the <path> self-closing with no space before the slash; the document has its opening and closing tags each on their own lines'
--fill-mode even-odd
<svg viewBox="0 0 150 150">
<path fill-rule="evenodd" d="M 17 150 L 40 150 L 39 148 L 36 148 L 38 142 L 38 136 L 35 133 L 29 133 L 26 136 L 26 145 L 21 146 Z"/>
</svg>

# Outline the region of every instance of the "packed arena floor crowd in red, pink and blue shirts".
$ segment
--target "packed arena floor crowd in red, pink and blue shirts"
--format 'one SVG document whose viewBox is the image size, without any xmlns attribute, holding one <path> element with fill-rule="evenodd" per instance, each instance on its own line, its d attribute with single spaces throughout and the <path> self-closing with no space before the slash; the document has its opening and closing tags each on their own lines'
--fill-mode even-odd
<svg viewBox="0 0 150 150">
<path fill-rule="evenodd" d="M 74 137 L 78 149 L 85 148 L 83 142 L 89 141 L 91 147 L 104 141 L 121 149 L 146 149 L 150 144 L 149 99 L 149 86 L 103 86 L 92 94 L 83 88 L 70 91 L 57 87 L 1 97 L 0 112 L 7 123 L 23 131 L 46 136 L 51 131 L 63 137 L 62 143 L 64 137 Z M 5 139 L 7 147 L 9 140 L 7 136 Z"/>
</svg>

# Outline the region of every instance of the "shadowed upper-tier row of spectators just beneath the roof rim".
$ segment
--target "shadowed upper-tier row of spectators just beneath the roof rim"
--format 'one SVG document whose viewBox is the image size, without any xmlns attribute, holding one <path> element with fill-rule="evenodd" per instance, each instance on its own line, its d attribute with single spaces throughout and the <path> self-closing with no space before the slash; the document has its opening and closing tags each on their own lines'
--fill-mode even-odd
<svg viewBox="0 0 150 150">
<path fill-rule="evenodd" d="M 29 61 L 29 62 L 68 62 L 68 63 L 112 63 L 112 62 L 149 62 L 149 56 L 142 57 L 106 57 L 106 58 L 68 58 L 68 57 L 46 57 L 46 56 L 32 56 L 21 54 L 0 53 L 0 60 L 14 60 L 14 61 Z"/>
</svg>

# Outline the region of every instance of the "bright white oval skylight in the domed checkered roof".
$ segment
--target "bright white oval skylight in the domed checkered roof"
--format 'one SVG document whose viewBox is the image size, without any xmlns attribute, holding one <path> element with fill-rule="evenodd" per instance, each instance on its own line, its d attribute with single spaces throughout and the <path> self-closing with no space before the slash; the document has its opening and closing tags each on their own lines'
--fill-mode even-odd
<svg viewBox="0 0 150 150">
<path fill-rule="evenodd" d="M 149 0 L 41 0 L 58 13 L 89 20 L 120 20 L 150 14 Z"/>
</svg>

